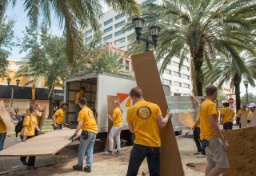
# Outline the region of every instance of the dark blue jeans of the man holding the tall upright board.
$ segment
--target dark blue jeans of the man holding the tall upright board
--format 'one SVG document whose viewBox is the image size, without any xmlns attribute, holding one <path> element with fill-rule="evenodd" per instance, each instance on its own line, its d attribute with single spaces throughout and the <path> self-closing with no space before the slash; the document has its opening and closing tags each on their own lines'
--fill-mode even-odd
<svg viewBox="0 0 256 176">
<path fill-rule="evenodd" d="M 134 144 L 130 150 L 127 176 L 135 176 L 143 160 L 146 158 L 150 175 L 160 176 L 160 147 L 150 147 Z"/>
</svg>

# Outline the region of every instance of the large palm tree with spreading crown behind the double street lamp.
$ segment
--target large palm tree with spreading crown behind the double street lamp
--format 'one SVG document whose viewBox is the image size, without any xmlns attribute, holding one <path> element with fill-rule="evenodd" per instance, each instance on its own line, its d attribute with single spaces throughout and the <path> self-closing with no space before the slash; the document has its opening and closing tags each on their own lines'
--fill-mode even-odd
<svg viewBox="0 0 256 176">
<path fill-rule="evenodd" d="M 155 50 L 157 61 L 162 60 L 161 72 L 172 58 L 180 58 L 181 68 L 190 56 L 193 93 L 202 96 L 203 62 L 210 64 L 217 52 L 234 59 L 241 50 L 256 54 L 255 10 L 254 0 L 163 0 L 160 5 L 143 4 L 142 18 L 144 26 L 161 27 Z M 146 27 L 143 34 L 150 38 Z M 144 50 L 145 46 L 135 43 L 130 52 Z"/>
</svg>

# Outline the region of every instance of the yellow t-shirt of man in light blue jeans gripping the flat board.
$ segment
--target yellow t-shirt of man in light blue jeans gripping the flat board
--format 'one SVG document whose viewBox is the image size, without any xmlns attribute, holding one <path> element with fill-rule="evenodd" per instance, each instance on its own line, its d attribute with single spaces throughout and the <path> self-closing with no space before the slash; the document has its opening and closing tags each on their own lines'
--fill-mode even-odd
<svg viewBox="0 0 256 176">
<path fill-rule="evenodd" d="M 94 118 L 94 113 L 89 107 L 85 106 L 78 114 L 78 122 L 82 122 L 82 130 L 98 134 L 98 126 Z"/>
</svg>

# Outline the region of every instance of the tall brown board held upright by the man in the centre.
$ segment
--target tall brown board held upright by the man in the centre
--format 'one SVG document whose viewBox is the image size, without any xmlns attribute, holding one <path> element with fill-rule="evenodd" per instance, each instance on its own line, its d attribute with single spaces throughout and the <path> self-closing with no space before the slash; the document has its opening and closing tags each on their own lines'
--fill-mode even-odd
<svg viewBox="0 0 256 176">
<path fill-rule="evenodd" d="M 146 101 L 158 104 L 162 110 L 162 115 L 165 116 L 168 106 L 153 51 L 133 55 L 131 58 L 136 82 L 143 91 L 143 98 Z M 171 122 L 160 130 L 160 135 L 162 143 L 160 175 L 183 176 L 182 160 Z"/>
</svg>

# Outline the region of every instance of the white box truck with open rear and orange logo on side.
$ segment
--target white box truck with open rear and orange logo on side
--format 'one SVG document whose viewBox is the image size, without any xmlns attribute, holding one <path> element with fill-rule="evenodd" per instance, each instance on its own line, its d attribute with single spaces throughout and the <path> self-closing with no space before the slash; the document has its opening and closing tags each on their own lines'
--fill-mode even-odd
<svg viewBox="0 0 256 176">
<path fill-rule="evenodd" d="M 134 86 L 136 86 L 136 82 L 133 78 L 122 77 L 116 74 L 93 73 L 68 78 L 65 82 L 64 90 L 64 101 L 69 103 L 66 111 L 66 122 L 74 121 L 74 101 L 76 94 L 81 90 L 81 87 L 85 87 L 85 94 L 88 102 L 87 106 L 94 111 L 95 118 L 97 119 L 98 138 L 104 138 L 106 137 L 106 132 L 108 130 L 107 95 L 118 96 L 124 117 L 122 120 L 123 128 L 121 137 L 127 140 L 128 143 L 132 142 L 132 135 L 128 129 L 128 124 L 126 123 L 126 111 L 133 103 L 130 99 L 129 93 L 131 88 Z M 166 96 L 170 97 L 170 87 L 163 86 L 163 88 Z M 175 99 L 175 101 L 177 101 L 177 99 Z M 175 110 L 178 106 L 177 108 L 172 106 L 172 103 L 175 103 L 175 101 L 168 103 L 168 105 L 174 114 L 178 114 L 178 111 Z M 174 131 L 181 131 L 184 129 L 184 126 L 178 117 L 173 118 L 172 122 L 174 125 Z"/>
</svg>

